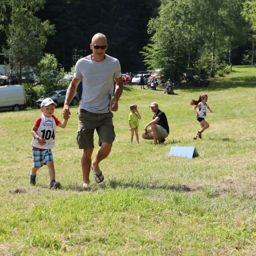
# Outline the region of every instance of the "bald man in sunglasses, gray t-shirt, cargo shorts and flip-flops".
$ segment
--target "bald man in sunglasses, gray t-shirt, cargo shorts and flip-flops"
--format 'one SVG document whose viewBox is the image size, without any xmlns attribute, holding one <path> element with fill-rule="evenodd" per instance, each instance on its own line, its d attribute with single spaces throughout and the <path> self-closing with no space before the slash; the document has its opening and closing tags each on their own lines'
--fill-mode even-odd
<svg viewBox="0 0 256 256">
<path fill-rule="evenodd" d="M 78 113 L 77 144 L 83 150 L 81 167 L 83 187 L 88 188 L 90 170 L 94 180 L 102 182 L 104 176 L 99 163 L 111 152 L 115 139 L 112 111 L 118 110 L 118 100 L 123 91 L 123 80 L 120 63 L 116 58 L 105 54 L 108 49 L 106 37 L 95 34 L 90 44 L 92 54 L 77 61 L 73 79 L 69 85 L 63 117 L 69 118 L 69 104 L 75 96 L 79 82 L 82 80 L 82 96 Z M 116 81 L 115 97 L 113 96 L 114 80 Z M 94 149 L 94 131 L 99 136 L 100 150 L 91 160 Z"/>
</svg>

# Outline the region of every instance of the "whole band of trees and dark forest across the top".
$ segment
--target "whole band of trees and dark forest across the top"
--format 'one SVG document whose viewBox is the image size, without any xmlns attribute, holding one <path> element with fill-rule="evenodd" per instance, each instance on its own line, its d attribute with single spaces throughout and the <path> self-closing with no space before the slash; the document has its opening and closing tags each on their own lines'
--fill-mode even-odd
<svg viewBox="0 0 256 256">
<path fill-rule="evenodd" d="M 108 38 L 108 54 L 122 71 L 162 69 L 214 76 L 224 67 L 254 65 L 252 0 L 0 0 L 0 51 L 9 65 L 34 67 L 56 57 L 70 72 L 91 53 L 95 33 Z"/>
</svg>

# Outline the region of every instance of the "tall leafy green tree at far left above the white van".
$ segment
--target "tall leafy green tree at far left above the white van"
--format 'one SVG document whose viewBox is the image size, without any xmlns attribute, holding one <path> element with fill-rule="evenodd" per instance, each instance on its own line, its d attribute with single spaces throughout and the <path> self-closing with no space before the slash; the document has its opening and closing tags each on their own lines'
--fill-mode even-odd
<svg viewBox="0 0 256 256">
<path fill-rule="evenodd" d="M 43 55 L 47 35 L 54 33 L 49 21 L 40 22 L 34 13 L 42 8 L 45 0 L 3 0 L 6 10 L 2 17 L 10 16 L 9 26 L 5 28 L 10 71 L 17 67 L 19 81 L 23 67 L 35 66 Z"/>
</svg>

